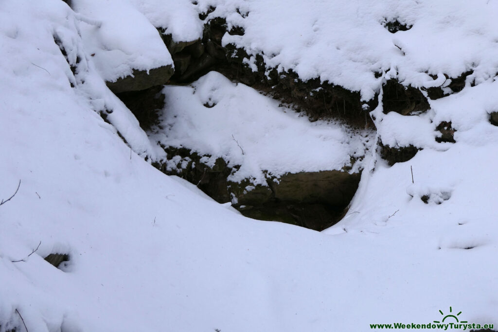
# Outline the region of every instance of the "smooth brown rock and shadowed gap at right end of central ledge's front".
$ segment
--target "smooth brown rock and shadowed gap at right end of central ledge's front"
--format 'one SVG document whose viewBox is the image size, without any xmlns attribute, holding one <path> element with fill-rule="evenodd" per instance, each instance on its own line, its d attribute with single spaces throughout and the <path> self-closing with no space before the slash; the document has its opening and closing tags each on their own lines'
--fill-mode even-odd
<svg viewBox="0 0 498 332">
<path fill-rule="evenodd" d="M 359 183 L 359 173 L 287 173 L 277 181 L 269 180 L 268 187 L 256 187 L 254 194 L 237 193 L 234 207 L 249 218 L 323 230 L 341 219 Z"/>
</svg>

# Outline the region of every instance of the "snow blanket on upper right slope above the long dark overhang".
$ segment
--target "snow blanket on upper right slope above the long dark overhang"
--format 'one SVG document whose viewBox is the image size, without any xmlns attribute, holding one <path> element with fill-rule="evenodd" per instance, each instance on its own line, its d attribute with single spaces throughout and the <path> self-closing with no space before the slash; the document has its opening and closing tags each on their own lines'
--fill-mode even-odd
<svg viewBox="0 0 498 332">
<path fill-rule="evenodd" d="M 226 34 L 224 44 L 261 54 L 267 67 L 293 70 L 302 80 L 320 77 L 360 91 L 364 100 L 380 90 L 374 72 L 429 87 L 427 73 L 457 77 L 473 69 L 483 82 L 498 68 L 496 1 L 200 2 L 216 5 L 209 17 L 226 16 L 229 25 L 244 27 L 243 36 Z M 236 14 L 237 7 L 248 14 Z M 392 34 L 382 26 L 386 19 L 413 27 Z"/>
</svg>

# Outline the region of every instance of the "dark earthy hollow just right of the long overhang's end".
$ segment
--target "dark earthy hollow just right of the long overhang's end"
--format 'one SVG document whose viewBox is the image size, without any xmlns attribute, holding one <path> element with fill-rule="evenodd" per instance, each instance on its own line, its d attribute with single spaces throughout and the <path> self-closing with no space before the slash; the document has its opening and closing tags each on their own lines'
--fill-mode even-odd
<svg viewBox="0 0 498 332">
<path fill-rule="evenodd" d="M 383 85 L 382 92 L 384 113 L 394 111 L 401 115 L 416 115 L 430 109 L 427 98 L 420 90 L 412 86 L 405 87 L 397 80 L 388 80 Z"/>
</svg>

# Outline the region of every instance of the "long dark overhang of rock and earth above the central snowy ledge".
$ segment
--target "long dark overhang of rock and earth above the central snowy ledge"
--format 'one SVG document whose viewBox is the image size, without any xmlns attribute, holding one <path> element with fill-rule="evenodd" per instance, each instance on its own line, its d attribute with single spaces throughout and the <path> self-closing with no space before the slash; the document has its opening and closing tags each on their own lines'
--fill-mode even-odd
<svg viewBox="0 0 498 332">
<path fill-rule="evenodd" d="M 319 78 L 304 82 L 292 71 L 278 73 L 266 68 L 260 55 L 255 56 L 257 70 L 252 71 L 244 63 L 249 58 L 244 49 L 233 44 L 222 46 L 227 32 L 241 35 L 244 29 L 233 27 L 228 31 L 226 20 L 217 17 L 206 23 L 201 40 L 174 43 L 170 35 L 163 35 L 176 68 L 171 82 L 190 83 L 215 70 L 306 111 L 311 119 L 333 117 L 356 127 L 374 127 L 369 111 L 377 106 L 376 98 L 361 102 L 359 92 L 320 82 Z"/>
</svg>

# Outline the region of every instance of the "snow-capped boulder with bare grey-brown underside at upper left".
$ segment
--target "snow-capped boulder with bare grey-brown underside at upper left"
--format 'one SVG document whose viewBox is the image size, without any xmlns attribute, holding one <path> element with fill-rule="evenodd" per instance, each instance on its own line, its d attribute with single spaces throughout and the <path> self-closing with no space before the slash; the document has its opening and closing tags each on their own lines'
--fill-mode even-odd
<svg viewBox="0 0 498 332">
<path fill-rule="evenodd" d="M 72 0 L 81 34 L 102 78 L 115 93 L 165 84 L 173 61 L 157 29 L 127 0 Z"/>
</svg>

